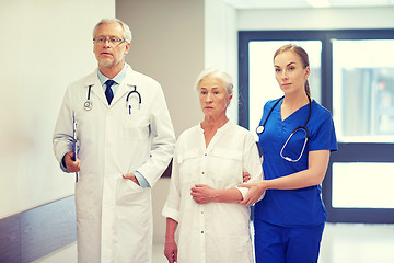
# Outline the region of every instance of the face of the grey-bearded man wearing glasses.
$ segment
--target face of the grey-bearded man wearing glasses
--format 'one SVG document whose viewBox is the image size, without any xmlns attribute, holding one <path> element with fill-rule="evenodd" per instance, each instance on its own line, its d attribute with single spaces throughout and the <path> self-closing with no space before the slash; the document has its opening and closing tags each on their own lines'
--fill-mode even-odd
<svg viewBox="0 0 394 263">
<path fill-rule="evenodd" d="M 119 23 L 106 23 L 99 26 L 95 39 L 106 38 L 104 43 L 94 42 L 93 53 L 99 61 L 99 67 L 116 67 L 125 62 L 125 56 L 130 44 L 127 42 L 111 43 L 109 37 L 124 39 L 123 27 Z"/>
</svg>

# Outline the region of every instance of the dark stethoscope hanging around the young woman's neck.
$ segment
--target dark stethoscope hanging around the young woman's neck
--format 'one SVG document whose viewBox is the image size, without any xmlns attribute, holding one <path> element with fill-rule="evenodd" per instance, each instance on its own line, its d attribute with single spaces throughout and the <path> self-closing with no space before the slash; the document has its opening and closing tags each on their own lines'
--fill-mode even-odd
<svg viewBox="0 0 394 263">
<path fill-rule="evenodd" d="M 305 146 L 306 146 L 306 141 L 308 141 L 308 138 L 309 138 L 309 129 L 306 128 L 306 124 L 308 124 L 309 119 L 311 118 L 311 112 L 312 112 L 311 98 L 310 98 L 308 94 L 306 94 L 306 96 L 308 96 L 308 100 L 309 100 L 309 113 L 308 113 L 306 121 L 305 121 L 304 125 L 298 126 L 297 128 L 293 129 L 293 132 L 290 134 L 289 138 L 286 140 L 285 145 L 282 146 L 282 148 L 281 148 L 281 150 L 280 150 L 280 157 L 283 158 L 283 159 L 287 160 L 287 161 L 291 161 L 291 162 L 297 162 L 297 161 L 299 161 L 299 160 L 301 159 L 302 153 L 303 153 L 303 151 L 304 151 L 304 149 L 305 149 Z M 264 121 L 263 125 L 258 125 L 258 127 L 256 128 L 256 133 L 257 133 L 257 134 L 259 134 L 259 135 L 263 134 L 264 127 L 265 127 L 265 125 L 266 125 L 266 123 L 267 123 L 270 114 L 273 113 L 275 106 L 278 105 L 278 103 L 279 103 L 281 100 L 283 100 L 283 98 L 285 98 L 285 96 L 279 98 L 279 99 L 275 102 L 274 106 L 269 110 L 268 115 L 267 115 L 266 119 Z M 303 142 L 303 146 L 302 146 L 302 150 L 301 150 L 301 153 L 300 153 L 299 158 L 297 158 L 296 160 L 293 160 L 293 159 L 291 159 L 290 157 L 283 156 L 283 149 L 285 149 L 285 147 L 287 146 L 287 144 L 289 142 L 289 140 L 291 139 L 291 137 L 292 137 L 297 132 L 300 132 L 300 130 L 305 133 L 305 139 L 304 139 L 304 142 Z"/>
</svg>

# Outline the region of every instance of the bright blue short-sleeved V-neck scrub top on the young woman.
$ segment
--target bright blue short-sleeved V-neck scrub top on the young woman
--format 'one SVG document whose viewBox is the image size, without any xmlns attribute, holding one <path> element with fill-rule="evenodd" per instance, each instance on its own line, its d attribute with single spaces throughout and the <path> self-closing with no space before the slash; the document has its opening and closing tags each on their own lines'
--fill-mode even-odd
<svg viewBox="0 0 394 263">
<path fill-rule="evenodd" d="M 260 125 L 266 119 L 268 112 L 273 108 L 273 100 L 264 106 Z M 309 104 L 281 121 L 280 101 L 273 110 L 265 130 L 259 136 L 259 146 L 263 152 L 263 170 L 266 180 L 289 175 L 308 169 L 309 151 L 337 150 L 334 122 L 331 113 L 312 101 L 311 118 L 306 127 L 309 139 L 301 159 L 297 162 L 287 161 L 280 157 L 286 140 L 294 128 L 304 125 Z M 303 136 L 297 134 L 291 138 L 283 150 L 283 156 L 293 160 L 298 158 L 303 145 Z M 255 205 L 255 218 L 277 226 L 316 226 L 326 221 L 327 211 L 322 197 L 322 186 L 310 186 L 299 190 L 267 190 L 265 197 Z"/>
</svg>

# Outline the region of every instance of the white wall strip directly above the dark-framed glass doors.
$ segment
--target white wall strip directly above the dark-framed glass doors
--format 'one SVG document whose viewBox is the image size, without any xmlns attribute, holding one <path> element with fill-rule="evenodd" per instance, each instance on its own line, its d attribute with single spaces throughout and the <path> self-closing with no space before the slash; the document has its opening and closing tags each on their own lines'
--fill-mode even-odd
<svg viewBox="0 0 394 263">
<path fill-rule="evenodd" d="M 393 28 L 394 8 L 242 10 L 237 30 Z"/>
</svg>

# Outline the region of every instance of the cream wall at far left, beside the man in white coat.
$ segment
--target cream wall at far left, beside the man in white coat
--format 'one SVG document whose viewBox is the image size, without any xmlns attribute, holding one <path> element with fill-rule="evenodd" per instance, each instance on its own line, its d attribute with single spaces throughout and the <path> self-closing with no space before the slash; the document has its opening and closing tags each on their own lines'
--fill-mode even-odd
<svg viewBox="0 0 394 263">
<path fill-rule="evenodd" d="M 115 0 L 0 0 L 0 218 L 73 194 L 51 150 L 66 87 L 95 68 Z"/>
</svg>

